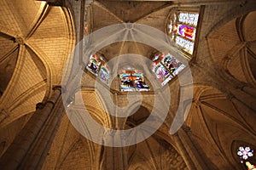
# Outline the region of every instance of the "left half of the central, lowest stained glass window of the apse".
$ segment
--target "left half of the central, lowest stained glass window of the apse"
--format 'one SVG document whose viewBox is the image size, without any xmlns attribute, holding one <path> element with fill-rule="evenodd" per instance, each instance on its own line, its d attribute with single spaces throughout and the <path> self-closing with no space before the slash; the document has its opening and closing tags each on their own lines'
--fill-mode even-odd
<svg viewBox="0 0 256 170">
<path fill-rule="evenodd" d="M 121 91 L 134 91 L 131 71 L 121 71 L 120 73 Z"/>
</svg>

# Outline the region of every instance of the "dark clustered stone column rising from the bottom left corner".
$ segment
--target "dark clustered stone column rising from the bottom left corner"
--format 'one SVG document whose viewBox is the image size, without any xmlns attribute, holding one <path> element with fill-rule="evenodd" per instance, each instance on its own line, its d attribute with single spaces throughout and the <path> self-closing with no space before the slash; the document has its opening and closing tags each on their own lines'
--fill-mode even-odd
<svg viewBox="0 0 256 170">
<path fill-rule="evenodd" d="M 3 169 L 40 169 L 54 139 L 64 107 L 61 88 L 54 88 L 51 98 L 39 103 L 37 110 L 15 137 L 0 160 Z"/>
</svg>

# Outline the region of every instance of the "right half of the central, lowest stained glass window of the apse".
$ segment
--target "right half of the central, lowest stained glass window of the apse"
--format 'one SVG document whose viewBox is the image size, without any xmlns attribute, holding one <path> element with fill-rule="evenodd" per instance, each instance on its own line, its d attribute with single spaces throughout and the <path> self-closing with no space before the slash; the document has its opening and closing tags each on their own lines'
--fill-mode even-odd
<svg viewBox="0 0 256 170">
<path fill-rule="evenodd" d="M 132 78 L 134 80 L 137 91 L 149 91 L 149 86 L 145 82 L 142 72 L 132 71 Z"/>
</svg>

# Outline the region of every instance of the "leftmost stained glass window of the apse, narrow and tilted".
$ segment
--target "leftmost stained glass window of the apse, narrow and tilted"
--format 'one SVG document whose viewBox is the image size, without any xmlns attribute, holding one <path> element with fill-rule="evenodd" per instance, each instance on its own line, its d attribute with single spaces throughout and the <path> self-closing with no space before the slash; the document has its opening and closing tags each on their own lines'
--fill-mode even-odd
<svg viewBox="0 0 256 170">
<path fill-rule="evenodd" d="M 105 82 L 107 85 L 109 84 L 110 71 L 102 55 L 91 54 L 86 68 L 96 77 L 99 76 L 102 82 Z"/>
</svg>

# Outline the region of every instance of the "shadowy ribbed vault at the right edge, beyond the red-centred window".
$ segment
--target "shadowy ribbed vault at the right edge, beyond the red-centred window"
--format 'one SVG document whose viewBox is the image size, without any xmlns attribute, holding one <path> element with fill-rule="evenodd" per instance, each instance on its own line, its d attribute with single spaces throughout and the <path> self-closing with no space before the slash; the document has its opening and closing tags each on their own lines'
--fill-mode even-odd
<svg viewBox="0 0 256 170">
<path fill-rule="evenodd" d="M 255 84 L 256 12 L 230 20 L 209 37 L 212 59 L 241 82 Z"/>
</svg>

